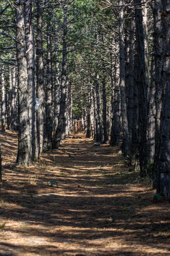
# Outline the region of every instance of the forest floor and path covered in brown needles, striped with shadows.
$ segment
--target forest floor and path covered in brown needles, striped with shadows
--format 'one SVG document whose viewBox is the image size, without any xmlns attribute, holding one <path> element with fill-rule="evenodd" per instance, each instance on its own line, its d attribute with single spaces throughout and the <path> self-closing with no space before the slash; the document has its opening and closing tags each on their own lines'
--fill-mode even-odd
<svg viewBox="0 0 170 256">
<path fill-rule="evenodd" d="M 120 148 L 73 136 L 21 168 L 17 132 L 0 133 L 0 256 L 170 255 L 170 202 Z"/>
</svg>

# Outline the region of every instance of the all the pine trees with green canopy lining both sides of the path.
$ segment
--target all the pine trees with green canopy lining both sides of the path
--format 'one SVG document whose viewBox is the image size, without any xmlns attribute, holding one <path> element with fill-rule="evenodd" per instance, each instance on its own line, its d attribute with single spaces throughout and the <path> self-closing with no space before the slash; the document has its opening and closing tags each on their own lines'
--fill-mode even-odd
<svg viewBox="0 0 170 256">
<path fill-rule="evenodd" d="M 169 10 L 166 0 L 1 0 L 2 129 L 19 130 L 18 163 L 58 148 L 78 118 L 87 137 L 122 140 L 128 164 L 170 195 Z"/>
</svg>

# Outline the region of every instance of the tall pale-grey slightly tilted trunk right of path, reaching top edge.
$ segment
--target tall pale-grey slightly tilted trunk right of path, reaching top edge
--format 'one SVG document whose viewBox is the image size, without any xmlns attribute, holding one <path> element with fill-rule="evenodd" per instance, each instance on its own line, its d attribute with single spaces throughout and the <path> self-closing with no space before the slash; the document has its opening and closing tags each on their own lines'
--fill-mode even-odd
<svg viewBox="0 0 170 256">
<path fill-rule="evenodd" d="M 125 42 L 123 32 L 123 1 L 119 0 L 119 52 L 120 52 L 120 96 L 121 96 L 121 116 L 123 129 L 122 151 L 124 155 L 130 157 L 130 141 L 127 123 L 127 106 L 125 91 Z"/>
</svg>

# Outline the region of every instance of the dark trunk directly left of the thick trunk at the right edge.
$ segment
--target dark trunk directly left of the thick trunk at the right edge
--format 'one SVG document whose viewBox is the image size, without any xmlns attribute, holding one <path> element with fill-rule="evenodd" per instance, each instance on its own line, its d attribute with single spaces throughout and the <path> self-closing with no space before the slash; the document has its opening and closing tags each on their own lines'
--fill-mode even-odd
<svg viewBox="0 0 170 256">
<path fill-rule="evenodd" d="M 160 149 L 160 131 L 161 131 L 161 108 L 162 108 L 162 88 L 163 88 L 163 74 L 162 74 L 162 0 L 155 0 L 155 8 L 153 12 L 154 18 L 154 55 L 155 55 L 155 104 L 156 104 L 156 119 L 155 119 L 155 163 L 154 163 L 154 183 L 153 187 L 156 189 L 158 187 L 158 171 L 157 171 L 157 161 L 159 159 L 159 149 Z"/>
</svg>

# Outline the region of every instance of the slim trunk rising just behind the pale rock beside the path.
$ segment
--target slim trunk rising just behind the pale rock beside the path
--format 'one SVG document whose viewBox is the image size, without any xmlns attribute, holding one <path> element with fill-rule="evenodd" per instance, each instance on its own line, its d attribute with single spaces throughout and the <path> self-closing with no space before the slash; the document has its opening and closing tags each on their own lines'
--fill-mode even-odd
<svg viewBox="0 0 170 256">
<path fill-rule="evenodd" d="M 98 117 L 98 126 L 97 126 L 97 141 L 100 141 L 101 143 L 104 142 L 104 134 L 103 134 L 103 128 L 102 128 L 102 117 L 101 117 L 101 111 L 100 111 L 100 92 L 99 92 L 99 77 L 97 75 L 96 80 L 96 104 L 97 104 L 97 117 Z"/>
</svg>

